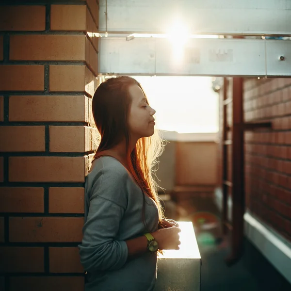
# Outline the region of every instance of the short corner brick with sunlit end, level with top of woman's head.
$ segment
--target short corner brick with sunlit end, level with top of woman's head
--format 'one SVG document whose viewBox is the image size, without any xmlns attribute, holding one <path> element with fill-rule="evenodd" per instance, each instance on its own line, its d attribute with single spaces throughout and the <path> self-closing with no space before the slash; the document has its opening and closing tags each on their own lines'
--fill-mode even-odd
<svg viewBox="0 0 291 291">
<path fill-rule="evenodd" d="M 50 65 L 50 92 L 86 92 L 93 96 L 97 79 L 84 65 Z"/>
</svg>

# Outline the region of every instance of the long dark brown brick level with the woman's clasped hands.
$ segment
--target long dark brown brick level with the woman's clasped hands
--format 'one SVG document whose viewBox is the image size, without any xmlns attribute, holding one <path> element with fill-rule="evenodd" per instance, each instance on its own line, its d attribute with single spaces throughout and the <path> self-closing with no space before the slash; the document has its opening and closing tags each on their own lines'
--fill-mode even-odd
<svg viewBox="0 0 291 291">
<path fill-rule="evenodd" d="M 83 217 L 10 217 L 10 242 L 81 242 Z"/>
</svg>

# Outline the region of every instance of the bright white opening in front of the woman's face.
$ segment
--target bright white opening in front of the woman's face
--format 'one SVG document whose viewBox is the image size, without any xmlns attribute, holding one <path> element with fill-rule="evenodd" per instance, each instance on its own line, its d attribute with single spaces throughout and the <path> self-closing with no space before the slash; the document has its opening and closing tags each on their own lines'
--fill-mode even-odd
<svg viewBox="0 0 291 291">
<path fill-rule="evenodd" d="M 158 129 L 178 133 L 218 131 L 218 94 L 211 77 L 132 76 L 157 111 Z"/>
</svg>

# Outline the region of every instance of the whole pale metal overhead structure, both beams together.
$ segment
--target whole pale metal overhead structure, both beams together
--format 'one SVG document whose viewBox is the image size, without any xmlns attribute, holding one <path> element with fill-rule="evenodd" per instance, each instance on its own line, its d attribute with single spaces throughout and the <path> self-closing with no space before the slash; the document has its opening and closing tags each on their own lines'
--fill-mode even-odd
<svg viewBox="0 0 291 291">
<path fill-rule="evenodd" d="M 100 0 L 99 72 L 125 75 L 291 76 L 291 40 L 188 38 L 177 59 L 167 33 L 180 36 L 291 36 L 291 0 Z"/>
</svg>

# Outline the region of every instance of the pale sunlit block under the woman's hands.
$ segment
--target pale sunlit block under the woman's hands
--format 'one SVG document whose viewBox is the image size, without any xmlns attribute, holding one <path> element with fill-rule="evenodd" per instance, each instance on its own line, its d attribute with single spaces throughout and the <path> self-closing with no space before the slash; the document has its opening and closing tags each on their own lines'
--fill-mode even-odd
<svg viewBox="0 0 291 291">
<path fill-rule="evenodd" d="M 158 258 L 154 291 L 200 291 L 201 256 L 192 222 L 178 222 L 180 249 L 165 250 Z"/>
</svg>

